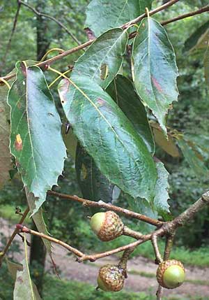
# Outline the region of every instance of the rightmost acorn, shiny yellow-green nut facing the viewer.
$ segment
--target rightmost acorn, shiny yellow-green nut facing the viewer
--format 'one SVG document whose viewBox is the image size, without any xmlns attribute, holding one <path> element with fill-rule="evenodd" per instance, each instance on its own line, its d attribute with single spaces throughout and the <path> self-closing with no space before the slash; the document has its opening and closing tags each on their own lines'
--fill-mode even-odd
<svg viewBox="0 0 209 300">
<path fill-rule="evenodd" d="M 166 260 L 158 266 L 158 283 L 167 289 L 175 289 L 185 281 L 185 268 L 176 259 Z"/>
</svg>

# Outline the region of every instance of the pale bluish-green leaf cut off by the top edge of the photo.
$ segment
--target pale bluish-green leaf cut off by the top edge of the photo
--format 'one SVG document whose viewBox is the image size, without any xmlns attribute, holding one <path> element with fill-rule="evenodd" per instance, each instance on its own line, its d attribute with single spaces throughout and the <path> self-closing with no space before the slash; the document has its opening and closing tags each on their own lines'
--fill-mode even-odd
<svg viewBox="0 0 209 300">
<path fill-rule="evenodd" d="M 93 0 L 86 9 L 86 27 L 95 36 L 120 27 L 151 8 L 153 0 Z"/>
</svg>

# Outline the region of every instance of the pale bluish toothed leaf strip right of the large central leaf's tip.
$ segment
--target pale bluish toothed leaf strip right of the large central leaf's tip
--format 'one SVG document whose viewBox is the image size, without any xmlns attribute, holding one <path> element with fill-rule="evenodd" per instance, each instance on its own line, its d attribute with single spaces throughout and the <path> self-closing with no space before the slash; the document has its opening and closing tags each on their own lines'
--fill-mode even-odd
<svg viewBox="0 0 209 300">
<path fill-rule="evenodd" d="M 169 172 L 165 169 L 162 162 L 156 162 L 157 168 L 157 183 L 155 186 L 155 198 L 154 198 L 154 208 L 158 215 L 164 217 L 167 220 L 169 211 Z"/>
</svg>

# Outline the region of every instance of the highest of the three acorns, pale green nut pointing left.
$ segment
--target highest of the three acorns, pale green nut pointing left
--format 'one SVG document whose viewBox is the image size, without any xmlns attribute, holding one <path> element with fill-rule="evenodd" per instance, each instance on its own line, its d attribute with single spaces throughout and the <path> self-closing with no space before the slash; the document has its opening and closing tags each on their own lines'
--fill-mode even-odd
<svg viewBox="0 0 209 300">
<path fill-rule="evenodd" d="M 123 234 L 124 224 L 116 213 L 109 210 L 95 213 L 91 217 L 91 228 L 101 241 L 111 241 Z"/>
</svg>

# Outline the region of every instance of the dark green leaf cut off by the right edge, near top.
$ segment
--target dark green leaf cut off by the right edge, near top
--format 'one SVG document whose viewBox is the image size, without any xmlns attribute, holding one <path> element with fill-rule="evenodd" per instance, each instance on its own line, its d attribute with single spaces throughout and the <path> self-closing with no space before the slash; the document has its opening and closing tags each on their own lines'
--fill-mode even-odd
<svg viewBox="0 0 209 300">
<path fill-rule="evenodd" d="M 205 43 L 208 40 L 209 35 L 209 21 L 197 28 L 189 38 L 185 41 L 185 51 L 192 51 L 197 48 L 207 48 L 208 43 Z"/>
</svg>

